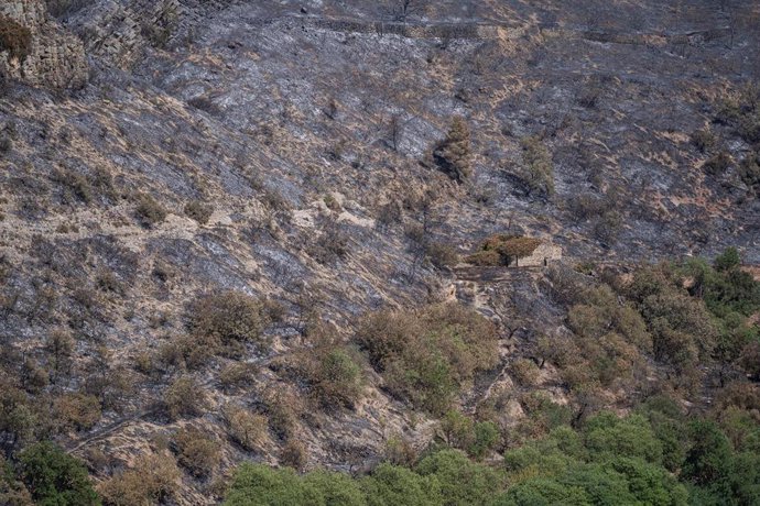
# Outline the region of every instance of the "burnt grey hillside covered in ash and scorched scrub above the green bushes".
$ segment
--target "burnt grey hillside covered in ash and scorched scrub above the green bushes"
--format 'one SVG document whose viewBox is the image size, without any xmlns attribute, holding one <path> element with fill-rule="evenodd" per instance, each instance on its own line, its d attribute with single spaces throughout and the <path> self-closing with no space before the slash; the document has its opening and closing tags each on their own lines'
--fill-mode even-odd
<svg viewBox="0 0 760 506">
<path fill-rule="evenodd" d="M 32 3 L 42 9 L 19 2 Z M 442 2 L 403 20 L 374 2 L 59 8 L 42 30 L 79 37 L 88 82 L 32 78 L 23 64 L 37 87 L 10 80 L 0 95 L 8 375 L 51 376 L 46 342 L 65 332 L 67 373 L 22 388 L 101 403 L 93 422 L 46 430 L 90 462 L 106 455 L 93 463 L 105 479 L 191 424 L 160 405 L 192 376 L 208 393 L 192 422 L 224 441 L 220 469 L 276 462 L 285 442 L 240 448 L 222 408 L 302 394 L 286 372 L 308 346 L 310 315 L 346 340 L 368 310 L 458 296 L 500 324 L 540 314 L 531 332 L 562 328 L 531 275 L 504 295 L 435 266 L 495 232 L 552 240 L 577 262 L 712 256 L 727 244 L 759 262 L 759 139 L 745 124 L 758 120 L 746 88 L 760 77 L 753 2 L 530 3 Z M 434 154 L 455 117 L 471 138 L 460 183 Z M 696 145 L 704 129 L 709 142 Z M 533 166 L 536 150 L 549 169 Z M 723 169 L 705 165 L 723 154 Z M 194 369 L 170 356 L 189 305 L 219 289 L 265 296 L 283 314 L 267 330 L 271 350 L 237 358 L 254 365 L 240 388 L 220 381 L 230 358 Z M 354 409 L 298 418 L 308 465 L 365 465 L 395 432 L 430 440 L 428 417 L 368 374 Z M 464 400 L 487 392 L 478 384 Z M 177 502 L 213 501 L 210 480 L 183 481 Z"/>
</svg>

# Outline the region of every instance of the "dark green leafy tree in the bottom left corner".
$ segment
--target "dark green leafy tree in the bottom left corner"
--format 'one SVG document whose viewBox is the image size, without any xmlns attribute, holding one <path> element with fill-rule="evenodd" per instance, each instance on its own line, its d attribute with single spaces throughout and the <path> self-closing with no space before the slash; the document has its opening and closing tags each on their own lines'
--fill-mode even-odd
<svg viewBox="0 0 760 506">
<path fill-rule="evenodd" d="M 93 488 L 87 468 L 48 441 L 19 454 L 21 480 L 40 506 L 95 506 L 100 498 Z"/>
</svg>

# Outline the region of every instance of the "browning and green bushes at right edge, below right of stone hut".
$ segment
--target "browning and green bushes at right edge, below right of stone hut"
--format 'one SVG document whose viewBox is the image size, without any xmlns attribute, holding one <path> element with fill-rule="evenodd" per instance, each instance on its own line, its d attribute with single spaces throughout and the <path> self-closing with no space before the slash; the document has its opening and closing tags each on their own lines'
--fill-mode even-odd
<svg viewBox="0 0 760 506">
<path fill-rule="evenodd" d="M 699 365 L 736 366 L 753 356 L 760 329 L 750 317 L 760 309 L 760 283 L 741 270 L 736 250 L 714 265 L 663 263 L 638 270 L 630 283 L 610 283 L 568 286 L 578 300 L 567 317 L 574 339 L 543 350 L 571 388 L 631 380 L 651 359 L 674 373 L 672 386 L 693 388 Z"/>
</svg>

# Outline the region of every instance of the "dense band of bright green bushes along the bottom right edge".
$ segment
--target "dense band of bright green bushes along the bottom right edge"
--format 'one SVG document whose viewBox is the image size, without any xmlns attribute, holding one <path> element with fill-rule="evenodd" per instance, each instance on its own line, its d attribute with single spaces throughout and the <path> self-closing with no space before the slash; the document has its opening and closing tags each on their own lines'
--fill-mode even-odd
<svg viewBox="0 0 760 506">
<path fill-rule="evenodd" d="M 718 422 L 690 419 L 672 400 L 652 397 L 626 417 L 600 413 L 577 429 L 556 427 L 495 465 L 446 448 L 359 477 L 243 464 L 225 504 L 757 504 L 760 425 L 750 419 L 743 428 L 735 446 Z"/>
</svg>

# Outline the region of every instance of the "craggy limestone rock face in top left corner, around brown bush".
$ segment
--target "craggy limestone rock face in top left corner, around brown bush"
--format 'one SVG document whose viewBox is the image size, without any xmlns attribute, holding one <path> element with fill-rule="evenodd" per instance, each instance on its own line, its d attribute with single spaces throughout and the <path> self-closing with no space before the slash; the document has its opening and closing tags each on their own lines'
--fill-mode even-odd
<svg viewBox="0 0 760 506">
<path fill-rule="evenodd" d="M 0 75 L 57 89 L 75 88 L 87 81 L 84 44 L 47 16 L 43 0 L 6 0 L 0 3 L 0 14 L 32 32 L 32 47 L 25 58 L 0 53 Z"/>
</svg>

